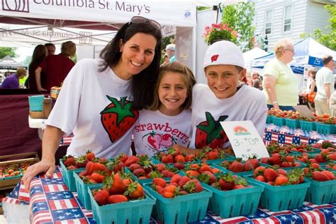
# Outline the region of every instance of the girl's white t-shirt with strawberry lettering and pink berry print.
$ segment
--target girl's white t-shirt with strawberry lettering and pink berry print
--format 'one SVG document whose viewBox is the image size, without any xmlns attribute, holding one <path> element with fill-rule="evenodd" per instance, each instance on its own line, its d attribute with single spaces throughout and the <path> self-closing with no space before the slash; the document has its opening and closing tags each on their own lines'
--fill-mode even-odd
<svg viewBox="0 0 336 224">
<path fill-rule="evenodd" d="M 140 110 L 133 129 L 138 154 L 154 155 L 174 145 L 188 146 L 191 137 L 191 110 L 168 116 L 159 110 Z"/>
</svg>

